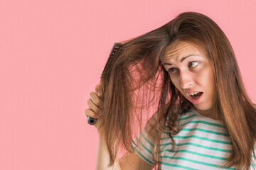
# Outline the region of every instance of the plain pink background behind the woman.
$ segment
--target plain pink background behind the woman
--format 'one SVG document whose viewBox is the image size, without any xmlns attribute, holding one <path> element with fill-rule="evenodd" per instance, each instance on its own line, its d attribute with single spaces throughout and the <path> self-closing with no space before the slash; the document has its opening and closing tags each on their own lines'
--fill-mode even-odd
<svg viewBox="0 0 256 170">
<path fill-rule="evenodd" d="M 0 169 L 95 169 L 90 91 L 114 42 L 204 13 L 228 36 L 256 103 L 256 1 L 0 1 Z"/>
</svg>

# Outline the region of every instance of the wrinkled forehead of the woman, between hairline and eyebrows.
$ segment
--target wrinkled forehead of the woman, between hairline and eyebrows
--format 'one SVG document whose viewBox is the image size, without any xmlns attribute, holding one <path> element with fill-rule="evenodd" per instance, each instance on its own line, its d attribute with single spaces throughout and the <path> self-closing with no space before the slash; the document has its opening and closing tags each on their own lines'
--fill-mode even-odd
<svg viewBox="0 0 256 170">
<path fill-rule="evenodd" d="M 198 45 L 194 45 L 189 42 L 174 42 L 169 45 L 164 52 L 164 55 L 161 56 L 161 60 L 178 60 L 181 57 L 186 57 L 188 55 L 199 55 L 204 57 L 203 50 L 198 47 Z"/>
</svg>

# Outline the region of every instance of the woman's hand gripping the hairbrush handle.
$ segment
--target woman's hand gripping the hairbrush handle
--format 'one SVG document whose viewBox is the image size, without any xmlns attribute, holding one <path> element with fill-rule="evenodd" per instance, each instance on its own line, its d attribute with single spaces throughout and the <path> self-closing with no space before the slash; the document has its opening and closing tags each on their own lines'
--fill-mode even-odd
<svg viewBox="0 0 256 170">
<path fill-rule="evenodd" d="M 90 98 L 87 100 L 87 105 L 89 108 L 85 110 L 85 115 L 90 116 L 91 118 L 100 118 L 103 111 L 103 101 L 100 99 L 99 96 L 102 96 L 102 88 L 101 84 L 97 84 L 95 86 L 95 91 L 90 92 Z M 97 120 L 98 122 L 98 120 Z M 97 127 L 98 123 L 95 123 L 95 127 Z"/>
</svg>

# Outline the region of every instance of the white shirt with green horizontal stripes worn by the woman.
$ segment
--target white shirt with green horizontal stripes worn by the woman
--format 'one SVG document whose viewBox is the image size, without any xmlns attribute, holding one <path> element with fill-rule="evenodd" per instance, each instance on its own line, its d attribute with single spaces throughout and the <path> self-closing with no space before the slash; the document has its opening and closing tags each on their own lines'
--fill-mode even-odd
<svg viewBox="0 0 256 170">
<path fill-rule="evenodd" d="M 181 113 L 178 120 L 181 121 L 181 131 L 173 136 L 176 142 L 175 151 L 171 151 L 172 142 L 168 132 L 164 132 L 161 137 L 161 169 L 221 169 L 220 166 L 224 165 L 231 152 L 232 143 L 220 120 L 201 115 L 194 108 Z M 146 135 L 145 127 L 141 135 L 141 140 L 138 138 L 139 135 L 134 140 L 141 149 L 134 150 L 145 162 L 155 165 L 153 153 L 156 146 Z M 132 146 L 135 145 L 132 143 Z M 256 150 L 256 147 L 254 149 Z M 256 160 L 252 160 L 251 170 L 256 169 Z"/>
</svg>

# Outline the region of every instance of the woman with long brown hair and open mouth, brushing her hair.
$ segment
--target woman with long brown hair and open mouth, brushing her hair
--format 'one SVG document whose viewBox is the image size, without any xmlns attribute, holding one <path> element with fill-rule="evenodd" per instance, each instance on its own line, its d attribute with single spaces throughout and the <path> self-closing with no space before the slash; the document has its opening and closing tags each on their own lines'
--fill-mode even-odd
<svg viewBox="0 0 256 170">
<path fill-rule="evenodd" d="M 228 38 L 208 16 L 181 13 L 122 42 L 106 77 L 85 111 L 98 118 L 97 169 L 255 167 L 255 104 Z M 127 154 L 118 160 L 119 144 Z"/>
</svg>

